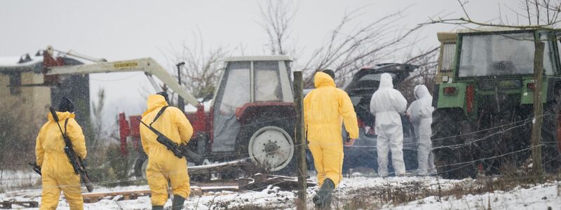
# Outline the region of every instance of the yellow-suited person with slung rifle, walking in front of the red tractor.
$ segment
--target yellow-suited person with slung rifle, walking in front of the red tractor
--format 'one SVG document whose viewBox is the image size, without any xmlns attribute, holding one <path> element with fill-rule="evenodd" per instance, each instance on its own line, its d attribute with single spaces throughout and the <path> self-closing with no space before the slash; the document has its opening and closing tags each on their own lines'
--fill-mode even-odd
<svg viewBox="0 0 561 210">
<path fill-rule="evenodd" d="M 148 109 L 142 114 L 142 122 L 154 127 L 171 141 L 187 144 L 193 134 L 193 127 L 185 114 L 176 107 L 169 106 L 154 121 L 158 112 L 168 106 L 168 94 L 158 92 L 148 97 Z M 140 126 L 142 148 L 148 155 L 146 178 L 152 193 L 152 209 L 163 209 L 168 200 L 168 180 L 173 191 L 172 209 L 182 209 L 185 199 L 191 193 L 189 174 L 187 174 L 187 160 L 177 158 L 168 151 L 163 144 L 156 141 L 156 134 L 147 127 Z"/>
</svg>

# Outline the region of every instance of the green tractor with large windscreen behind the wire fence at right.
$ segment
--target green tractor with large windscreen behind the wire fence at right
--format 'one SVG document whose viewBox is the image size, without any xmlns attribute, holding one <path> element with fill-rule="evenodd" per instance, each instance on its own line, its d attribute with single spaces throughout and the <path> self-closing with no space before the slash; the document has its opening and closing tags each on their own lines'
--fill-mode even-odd
<svg viewBox="0 0 561 210">
<path fill-rule="evenodd" d="M 546 172 L 561 160 L 561 32 L 503 28 L 438 33 L 433 153 L 446 179 L 528 165 L 534 122 L 534 49 L 545 43 L 541 146 Z M 508 170 L 511 171 L 508 171 Z"/>
</svg>

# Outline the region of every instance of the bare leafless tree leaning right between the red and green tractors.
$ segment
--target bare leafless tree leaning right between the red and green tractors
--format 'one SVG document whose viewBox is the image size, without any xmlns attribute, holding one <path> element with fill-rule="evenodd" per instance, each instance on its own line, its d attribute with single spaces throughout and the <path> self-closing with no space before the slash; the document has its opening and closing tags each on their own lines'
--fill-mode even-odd
<svg viewBox="0 0 561 210">
<path fill-rule="evenodd" d="M 399 62 L 413 42 L 408 38 L 422 25 L 406 29 L 395 24 L 403 18 L 404 10 L 391 13 L 366 25 L 354 25 L 362 9 L 344 15 L 339 25 L 329 34 L 322 47 L 312 52 L 303 71 L 308 75 L 306 85 L 311 85 L 311 74 L 318 69 L 332 68 L 342 84 L 361 67 L 378 62 Z M 416 57 L 416 56 L 412 56 Z"/>
</svg>

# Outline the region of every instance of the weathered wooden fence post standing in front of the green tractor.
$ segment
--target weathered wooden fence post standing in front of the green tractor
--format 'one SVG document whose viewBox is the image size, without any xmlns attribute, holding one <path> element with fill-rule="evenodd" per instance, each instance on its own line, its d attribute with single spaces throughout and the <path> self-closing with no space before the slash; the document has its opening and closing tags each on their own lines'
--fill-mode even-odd
<svg viewBox="0 0 561 210">
<path fill-rule="evenodd" d="M 534 124 L 532 125 L 532 161 L 537 179 L 543 175 L 541 165 L 541 122 L 543 119 L 543 107 L 541 104 L 541 80 L 543 77 L 543 48 L 544 43 L 536 41 L 534 53 Z"/>
</svg>

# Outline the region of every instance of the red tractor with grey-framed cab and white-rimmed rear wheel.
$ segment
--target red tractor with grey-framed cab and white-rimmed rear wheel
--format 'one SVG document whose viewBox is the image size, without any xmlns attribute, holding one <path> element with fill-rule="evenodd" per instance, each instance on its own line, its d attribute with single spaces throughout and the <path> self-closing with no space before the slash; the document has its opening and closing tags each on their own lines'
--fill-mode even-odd
<svg viewBox="0 0 561 210">
<path fill-rule="evenodd" d="M 225 59 L 208 111 L 203 102 L 210 96 L 195 103 L 190 94 L 182 95 L 169 84 L 177 83 L 175 80 L 163 80 L 197 107 L 195 113 L 186 113 L 194 128 L 189 149 L 210 162 L 246 158 L 267 172 L 292 172 L 295 107 L 290 62 L 286 56 Z M 140 146 L 140 125 L 134 118 L 140 116 L 129 116 L 127 120 L 124 113 L 119 114 L 121 149 L 126 153 L 127 139 L 131 137 L 135 150 L 141 153 L 135 162 L 135 176 L 143 176 L 147 156 Z"/>
</svg>

